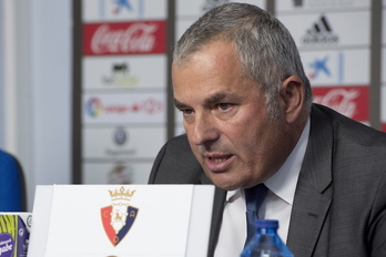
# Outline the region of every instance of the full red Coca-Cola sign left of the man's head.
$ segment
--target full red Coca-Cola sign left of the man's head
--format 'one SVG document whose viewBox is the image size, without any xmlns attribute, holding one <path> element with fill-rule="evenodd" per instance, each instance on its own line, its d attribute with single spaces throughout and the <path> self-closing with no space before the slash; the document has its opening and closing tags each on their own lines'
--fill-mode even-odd
<svg viewBox="0 0 386 257">
<path fill-rule="evenodd" d="M 84 24 L 83 29 L 87 55 L 165 52 L 163 21 Z"/>
</svg>

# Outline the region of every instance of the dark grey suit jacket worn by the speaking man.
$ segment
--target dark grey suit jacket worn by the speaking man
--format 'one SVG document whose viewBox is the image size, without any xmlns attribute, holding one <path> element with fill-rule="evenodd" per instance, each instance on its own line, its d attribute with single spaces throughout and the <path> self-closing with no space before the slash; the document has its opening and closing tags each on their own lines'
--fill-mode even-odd
<svg viewBox="0 0 386 257">
<path fill-rule="evenodd" d="M 149 183 L 211 184 L 186 135 L 160 151 Z M 213 256 L 225 191 L 216 188 L 207 256 Z M 311 134 L 291 214 L 296 257 L 386 256 L 386 135 L 313 105 Z"/>
</svg>

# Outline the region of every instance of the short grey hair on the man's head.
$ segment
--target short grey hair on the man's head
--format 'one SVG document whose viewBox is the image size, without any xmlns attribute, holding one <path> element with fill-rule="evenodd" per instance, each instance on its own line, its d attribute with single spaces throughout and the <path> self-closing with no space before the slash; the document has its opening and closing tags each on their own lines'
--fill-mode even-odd
<svg viewBox="0 0 386 257">
<path fill-rule="evenodd" d="M 296 44 L 288 30 L 268 12 L 256 6 L 236 2 L 210 10 L 177 41 L 173 63 L 183 65 L 191 54 L 216 40 L 232 42 L 243 72 L 254 79 L 265 92 L 272 120 L 280 116 L 280 88 L 291 75 L 297 75 L 303 81 L 304 104 L 306 109 L 311 109 L 311 85 Z"/>
</svg>

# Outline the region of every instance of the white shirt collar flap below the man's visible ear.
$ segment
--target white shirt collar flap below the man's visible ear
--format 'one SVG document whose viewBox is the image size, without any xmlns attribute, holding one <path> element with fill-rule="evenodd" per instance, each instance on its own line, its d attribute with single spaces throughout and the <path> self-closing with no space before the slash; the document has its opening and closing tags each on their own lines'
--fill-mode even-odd
<svg viewBox="0 0 386 257">
<path fill-rule="evenodd" d="M 303 158 L 307 147 L 308 135 L 309 117 L 304 126 L 301 138 L 287 160 L 272 177 L 264 182 L 271 192 L 290 205 L 293 205 L 294 202 L 297 178 L 301 173 Z"/>
</svg>

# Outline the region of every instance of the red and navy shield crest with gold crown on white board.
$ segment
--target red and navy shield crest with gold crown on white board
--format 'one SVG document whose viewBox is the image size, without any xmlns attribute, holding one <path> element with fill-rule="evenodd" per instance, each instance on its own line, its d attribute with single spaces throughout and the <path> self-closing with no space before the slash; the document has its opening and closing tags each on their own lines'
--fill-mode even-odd
<svg viewBox="0 0 386 257">
<path fill-rule="evenodd" d="M 133 225 L 139 208 L 130 206 L 135 191 L 130 192 L 123 186 L 118 191 L 109 191 L 111 205 L 101 208 L 102 224 L 111 244 L 116 246 Z"/>
</svg>

